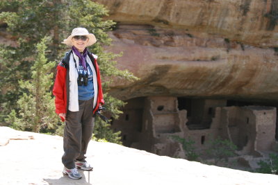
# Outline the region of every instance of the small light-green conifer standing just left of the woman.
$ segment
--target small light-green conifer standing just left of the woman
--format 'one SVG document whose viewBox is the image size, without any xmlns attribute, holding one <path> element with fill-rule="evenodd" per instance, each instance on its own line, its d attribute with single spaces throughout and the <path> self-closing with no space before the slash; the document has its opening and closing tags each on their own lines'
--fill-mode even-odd
<svg viewBox="0 0 278 185">
<path fill-rule="evenodd" d="M 7 122 L 20 130 L 40 132 L 45 128 L 54 129 L 58 123 L 58 116 L 55 114 L 54 98 L 51 97 L 49 88 L 53 84 L 53 73 L 51 69 L 56 65 L 55 62 L 47 62 L 45 58 L 46 39 L 42 39 L 37 45 L 38 55 L 32 70 L 31 80 L 19 81 L 19 86 L 25 92 L 17 100 L 19 114 L 15 110 L 6 118 Z"/>
</svg>

